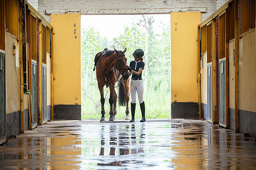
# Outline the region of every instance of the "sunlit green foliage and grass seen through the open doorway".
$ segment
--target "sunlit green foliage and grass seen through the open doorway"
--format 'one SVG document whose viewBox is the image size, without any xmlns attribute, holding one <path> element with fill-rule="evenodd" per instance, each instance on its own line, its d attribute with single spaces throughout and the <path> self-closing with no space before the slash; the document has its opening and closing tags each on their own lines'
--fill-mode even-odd
<svg viewBox="0 0 256 170">
<path fill-rule="evenodd" d="M 142 17 L 143 20 L 143 17 Z M 138 21 L 139 22 L 139 21 Z M 151 22 L 154 19 L 151 18 Z M 142 23 L 141 23 L 142 24 Z M 113 46 L 118 50 L 127 48 L 127 62 L 133 60 L 132 53 L 135 49 L 145 48 L 145 35 L 148 31 L 148 77 L 147 77 L 147 96 L 144 99 L 146 104 L 146 118 L 170 118 L 171 112 L 171 52 L 170 52 L 170 24 L 161 23 L 158 25 L 162 33 L 156 34 L 150 28 L 142 27 L 139 23 L 125 25 L 123 33 L 113 40 L 102 38 L 100 33 L 93 28 L 84 29 L 81 36 L 81 79 L 82 79 L 82 118 L 100 119 L 100 112 L 96 113 L 96 105 L 100 107 L 100 92 L 97 88 L 95 77 L 94 56 L 104 48 Z M 144 75 L 143 75 L 144 76 Z M 85 80 L 85 78 L 87 80 Z M 143 77 L 144 78 L 144 77 Z M 90 82 L 90 83 L 86 83 Z M 117 91 L 118 89 L 116 89 Z M 105 94 L 108 89 L 105 88 Z M 87 97 L 86 97 L 87 96 Z M 92 99 L 90 99 L 90 96 Z M 106 95 L 107 97 L 108 95 Z M 118 105 L 118 104 L 117 104 Z M 108 118 L 108 100 L 105 101 L 106 118 Z M 117 108 L 116 118 L 125 117 L 125 107 Z M 141 111 L 137 103 L 135 118 L 141 118 Z"/>
</svg>

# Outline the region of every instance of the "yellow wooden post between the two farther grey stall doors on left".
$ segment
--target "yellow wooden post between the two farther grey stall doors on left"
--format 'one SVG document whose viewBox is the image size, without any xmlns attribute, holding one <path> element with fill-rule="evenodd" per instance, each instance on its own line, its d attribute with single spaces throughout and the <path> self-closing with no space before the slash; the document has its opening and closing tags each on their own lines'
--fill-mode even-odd
<svg viewBox="0 0 256 170">
<path fill-rule="evenodd" d="M 42 37 L 42 21 L 39 20 L 39 59 L 38 59 L 38 66 L 39 66 L 39 125 L 43 124 L 43 113 L 42 113 L 42 60 L 43 60 L 43 37 Z"/>
</svg>

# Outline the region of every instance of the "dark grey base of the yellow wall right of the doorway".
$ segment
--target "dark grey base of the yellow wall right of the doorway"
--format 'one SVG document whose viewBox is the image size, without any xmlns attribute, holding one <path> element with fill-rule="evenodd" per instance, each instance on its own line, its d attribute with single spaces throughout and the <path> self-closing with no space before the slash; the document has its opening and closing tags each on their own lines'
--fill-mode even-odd
<svg viewBox="0 0 256 170">
<path fill-rule="evenodd" d="M 199 118 L 199 105 L 193 102 L 177 102 L 171 104 L 171 118 Z"/>
</svg>

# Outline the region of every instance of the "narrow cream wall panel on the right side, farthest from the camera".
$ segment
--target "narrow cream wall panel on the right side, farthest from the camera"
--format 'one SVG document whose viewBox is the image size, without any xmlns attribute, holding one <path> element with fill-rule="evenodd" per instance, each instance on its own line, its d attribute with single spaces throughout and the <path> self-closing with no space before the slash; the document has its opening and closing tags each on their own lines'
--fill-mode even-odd
<svg viewBox="0 0 256 170">
<path fill-rule="evenodd" d="M 204 53 L 201 66 L 201 103 L 207 104 L 207 53 Z"/>
</svg>

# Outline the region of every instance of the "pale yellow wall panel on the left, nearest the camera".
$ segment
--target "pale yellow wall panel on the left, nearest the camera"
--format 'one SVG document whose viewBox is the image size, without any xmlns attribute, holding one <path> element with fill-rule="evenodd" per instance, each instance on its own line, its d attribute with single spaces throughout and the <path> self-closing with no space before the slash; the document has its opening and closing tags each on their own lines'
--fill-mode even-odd
<svg viewBox="0 0 256 170">
<path fill-rule="evenodd" d="M 19 57 L 19 43 L 8 32 L 6 32 L 6 113 L 20 111 L 20 66 L 15 66 L 15 56 L 13 56 L 13 44 L 16 45 L 16 55 Z M 16 71 L 16 73 L 15 73 Z"/>
</svg>

